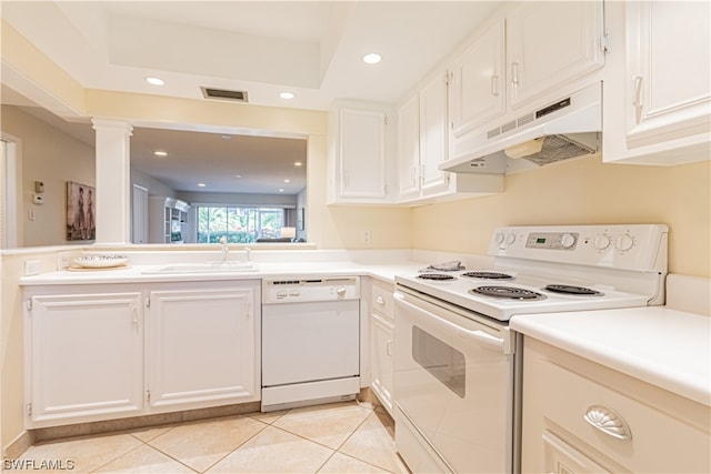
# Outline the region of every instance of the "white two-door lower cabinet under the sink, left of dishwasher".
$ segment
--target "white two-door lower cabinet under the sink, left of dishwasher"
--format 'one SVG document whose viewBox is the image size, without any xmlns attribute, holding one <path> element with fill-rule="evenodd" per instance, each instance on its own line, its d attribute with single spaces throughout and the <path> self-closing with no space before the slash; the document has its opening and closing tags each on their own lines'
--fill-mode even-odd
<svg viewBox="0 0 711 474">
<path fill-rule="evenodd" d="M 37 286 L 24 300 L 28 428 L 260 399 L 258 280 Z"/>
</svg>

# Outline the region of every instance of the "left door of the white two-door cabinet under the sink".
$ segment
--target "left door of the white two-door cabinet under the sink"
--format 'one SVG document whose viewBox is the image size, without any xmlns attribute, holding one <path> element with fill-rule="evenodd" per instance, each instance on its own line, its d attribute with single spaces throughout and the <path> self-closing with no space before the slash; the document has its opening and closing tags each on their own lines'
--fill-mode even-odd
<svg viewBox="0 0 711 474">
<path fill-rule="evenodd" d="M 140 292 L 33 296 L 27 312 L 32 427 L 143 410 Z"/>
</svg>

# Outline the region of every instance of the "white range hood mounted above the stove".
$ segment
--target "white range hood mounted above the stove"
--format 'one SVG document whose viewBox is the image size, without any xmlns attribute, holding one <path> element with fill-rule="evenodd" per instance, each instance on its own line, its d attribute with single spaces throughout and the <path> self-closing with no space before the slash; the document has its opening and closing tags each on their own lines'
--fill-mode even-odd
<svg viewBox="0 0 711 474">
<path fill-rule="evenodd" d="M 512 174 L 537 169 L 597 153 L 601 133 L 602 83 L 597 82 L 513 119 L 509 113 L 503 123 L 469 140 L 454 139 L 452 159 L 440 164 L 440 170 Z"/>
</svg>

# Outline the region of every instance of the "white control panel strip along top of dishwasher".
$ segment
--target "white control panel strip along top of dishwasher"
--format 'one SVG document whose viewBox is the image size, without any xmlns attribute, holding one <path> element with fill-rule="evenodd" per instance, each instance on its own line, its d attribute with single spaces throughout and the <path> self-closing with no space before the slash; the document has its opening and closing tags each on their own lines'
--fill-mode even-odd
<svg viewBox="0 0 711 474">
<path fill-rule="evenodd" d="M 358 276 L 262 280 L 262 303 L 358 300 Z"/>
</svg>

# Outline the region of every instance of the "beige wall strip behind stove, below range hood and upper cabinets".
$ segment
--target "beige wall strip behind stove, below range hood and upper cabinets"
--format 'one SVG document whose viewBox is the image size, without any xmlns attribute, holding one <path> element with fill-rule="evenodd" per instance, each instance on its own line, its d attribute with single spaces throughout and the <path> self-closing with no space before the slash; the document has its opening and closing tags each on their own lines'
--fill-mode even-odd
<svg viewBox="0 0 711 474">
<path fill-rule="evenodd" d="M 599 157 L 505 178 L 499 195 L 418 208 L 412 246 L 484 253 L 498 225 L 664 223 L 669 270 L 711 276 L 711 162 L 603 164 Z"/>
</svg>

